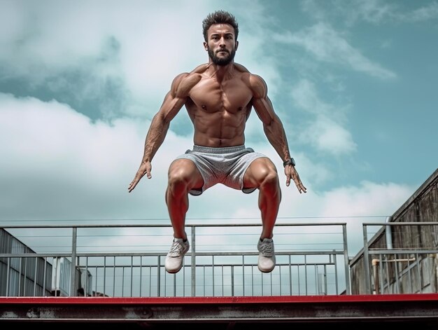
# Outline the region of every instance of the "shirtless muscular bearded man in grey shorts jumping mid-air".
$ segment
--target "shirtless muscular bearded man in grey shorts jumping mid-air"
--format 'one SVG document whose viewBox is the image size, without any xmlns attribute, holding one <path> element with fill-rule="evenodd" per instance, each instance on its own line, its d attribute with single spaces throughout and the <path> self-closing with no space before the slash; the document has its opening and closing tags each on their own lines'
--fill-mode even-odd
<svg viewBox="0 0 438 330">
<path fill-rule="evenodd" d="M 244 145 L 245 125 L 252 108 L 263 123 L 269 143 L 283 159 L 286 186 L 292 179 L 299 193 L 306 193 L 306 188 L 295 170 L 283 124 L 267 96 L 266 83 L 234 63 L 239 46 L 239 27 L 234 16 L 216 11 L 204 19 L 202 27 L 209 62 L 174 78 L 150 123 L 143 159 L 128 191 L 131 192 L 144 175 L 148 179 L 152 177 L 151 161 L 167 135 L 171 120 L 185 106 L 195 129 L 194 146 L 169 167 L 166 203 L 174 241 L 165 261 L 167 272 L 177 273 L 181 269 L 189 249 L 185 233 L 188 194 L 201 195 L 215 184 L 225 184 L 243 193 L 259 190 L 262 233 L 257 242 L 258 268 L 269 273 L 275 267 L 272 238 L 281 189 L 274 163 Z"/>
</svg>

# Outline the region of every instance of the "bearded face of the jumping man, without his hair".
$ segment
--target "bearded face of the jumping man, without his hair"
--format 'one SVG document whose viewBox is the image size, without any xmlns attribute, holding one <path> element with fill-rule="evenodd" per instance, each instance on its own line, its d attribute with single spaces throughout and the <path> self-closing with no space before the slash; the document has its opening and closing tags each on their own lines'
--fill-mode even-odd
<svg viewBox="0 0 438 330">
<path fill-rule="evenodd" d="M 204 47 L 214 64 L 227 65 L 234 60 L 238 42 L 235 41 L 234 28 L 231 25 L 211 25 L 207 37 Z"/>
</svg>

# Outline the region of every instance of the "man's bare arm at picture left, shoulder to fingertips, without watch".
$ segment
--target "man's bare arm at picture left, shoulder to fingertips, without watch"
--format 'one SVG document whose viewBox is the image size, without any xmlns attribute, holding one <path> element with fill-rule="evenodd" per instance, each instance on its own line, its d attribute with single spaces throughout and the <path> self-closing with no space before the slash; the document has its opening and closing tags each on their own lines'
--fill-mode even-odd
<svg viewBox="0 0 438 330">
<path fill-rule="evenodd" d="M 188 74 L 179 74 L 174 78 L 174 81 L 171 84 L 171 89 L 164 97 L 160 110 L 155 116 L 153 116 L 148 134 L 146 135 L 143 158 L 139 170 L 136 172 L 134 180 L 132 180 L 128 186 L 129 193 L 135 188 L 145 174 L 148 179 L 152 177 L 150 174 L 152 170 L 150 162 L 164 142 L 171 120 L 175 118 L 176 114 L 178 114 L 178 111 L 181 110 L 187 100 L 188 91 L 184 88 L 184 79 L 187 76 Z"/>
</svg>

